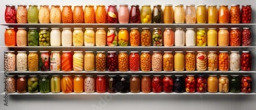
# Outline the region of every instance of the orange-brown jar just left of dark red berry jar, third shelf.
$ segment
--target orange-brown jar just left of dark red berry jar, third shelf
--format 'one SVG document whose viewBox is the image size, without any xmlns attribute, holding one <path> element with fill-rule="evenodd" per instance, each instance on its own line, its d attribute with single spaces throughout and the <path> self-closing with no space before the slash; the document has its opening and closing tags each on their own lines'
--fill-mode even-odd
<svg viewBox="0 0 256 110">
<path fill-rule="evenodd" d="M 104 51 L 97 51 L 97 55 L 95 57 L 95 64 L 96 64 L 96 71 L 97 72 L 104 72 L 106 71 L 106 62 L 107 57 Z"/>
</svg>

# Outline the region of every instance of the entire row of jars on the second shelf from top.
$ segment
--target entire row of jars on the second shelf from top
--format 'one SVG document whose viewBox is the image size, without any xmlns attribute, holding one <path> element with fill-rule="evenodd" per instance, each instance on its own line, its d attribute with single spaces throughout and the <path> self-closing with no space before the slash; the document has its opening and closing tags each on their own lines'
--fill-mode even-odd
<svg viewBox="0 0 256 110">
<path fill-rule="evenodd" d="M 139 32 L 138 28 L 131 28 L 128 32 L 127 28 L 97 28 L 94 32 L 93 28 L 63 28 L 60 32 L 59 28 L 18 28 L 15 32 L 14 28 L 6 28 L 5 45 L 6 46 L 251 46 L 252 32 L 250 28 L 198 28 L 195 32 L 194 28 L 186 28 L 186 33 L 182 28 L 176 28 L 175 32 L 172 28 L 165 28 L 162 32 L 161 28 L 142 28 Z M 152 44 L 151 44 L 152 43 Z"/>
</svg>

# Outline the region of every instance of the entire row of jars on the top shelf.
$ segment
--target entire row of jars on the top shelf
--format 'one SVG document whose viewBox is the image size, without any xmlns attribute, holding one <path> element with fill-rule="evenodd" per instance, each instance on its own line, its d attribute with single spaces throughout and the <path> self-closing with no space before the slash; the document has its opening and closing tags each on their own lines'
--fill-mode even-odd
<svg viewBox="0 0 256 110">
<path fill-rule="evenodd" d="M 165 5 L 162 10 L 161 5 L 154 5 L 151 10 L 150 5 L 132 5 L 130 12 L 128 5 L 121 4 L 119 11 L 116 5 L 98 5 L 94 11 L 93 5 L 83 6 L 60 6 L 52 5 L 49 10 L 48 5 L 41 5 L 38 10 L 37 5 L 18 5 L 17 12 L 14 5 L 6 5 L 6 23 L 250 23 L 252 19 L 252 9 L 250 5 L 231 5 L 230 10 L 227 5 L 195 5 L 186 6 L 186 11 L 182 4 L 176 5 L 173 10 L 172 5 Z"/>
</svg>

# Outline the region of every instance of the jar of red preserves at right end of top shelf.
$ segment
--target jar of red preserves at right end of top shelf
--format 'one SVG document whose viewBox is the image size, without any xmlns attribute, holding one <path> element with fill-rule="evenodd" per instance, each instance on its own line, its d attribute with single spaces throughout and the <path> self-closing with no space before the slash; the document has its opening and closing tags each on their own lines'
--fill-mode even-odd
<svg viewBox="0 0 256 110">
<path fill-rule="evenodd" d="M 250 23 L 252 20 L 252 8 L 251 5 L 242 5 L 241 9 L 241 22 Z"/>
</svg>

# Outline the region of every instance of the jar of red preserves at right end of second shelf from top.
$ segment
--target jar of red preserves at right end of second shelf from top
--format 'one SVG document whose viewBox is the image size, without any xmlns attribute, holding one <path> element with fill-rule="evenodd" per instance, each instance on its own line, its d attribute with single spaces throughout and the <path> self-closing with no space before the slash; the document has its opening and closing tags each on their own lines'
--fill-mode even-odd
<svg viewBox="0 0 256 110">
<path fill-rule="evenodd" d="M 250 28 L 243 28 L 242 32 L 242 46 L 251 46 L 252 44 L 252 32 L 250 31 Z"/>
</svg>

